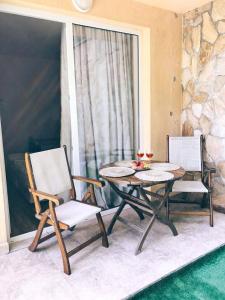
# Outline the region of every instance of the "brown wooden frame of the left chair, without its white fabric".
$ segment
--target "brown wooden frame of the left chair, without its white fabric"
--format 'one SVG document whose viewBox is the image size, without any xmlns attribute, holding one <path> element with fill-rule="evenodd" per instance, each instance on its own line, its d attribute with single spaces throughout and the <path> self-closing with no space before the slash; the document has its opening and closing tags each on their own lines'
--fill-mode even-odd
<svg viewBox="0 0 225 300">
<path fill-rule="evenodd" d="M 64 151 L 65 151 L 65 155 L 66 155 L 68 171 L 69 171 L 70 178 L 71 178 L 71 187 L 72 187 L 70 190 L 71 200 L 77 201 L 77 200 L 75 200 L 76 199 L 76 190 L 75 190 L 75 186 L 74 186 L 74 182 L 73 182 L 73 179 L 75 179 L 75 180 L 79 180 L 79 181 L 82 181 L 82 182 L 85 182 L 88 184 L 87 192 L 85 193 L 81 202 L 83 202 L 87 205 L 97 206 L 97 201 L 96 201 L 95 192 L 94 192 L 94 186 L 101 188 L 104 186 L 104 182 L 100 181 L 100 180 L 96 180 L 96 179 L 82 177 L 82 176 L 72 176 L 70 167 L 69 167 L 69 163 L 68 163 L 66 146 L 64 146 Z M 29 185 L 30 185 L 29 191 L 32 194 L 33 199 L 34 199 L 34 206 L 35 206 L 35 211 L 36 211 L 35 216 L 37 219 L 40 220 L 36 235 L 34 237 L 33 242 L 29 246 L 29 250 L 34 252 L 40 243 L 56 236 L 58 244 L 59 244 L 59 248 L 61 251 L 61 255 L 62 255 L 64 273 L 70 275 L 71 274 L 71 268 L 70 268 L 70 263 L 69 263 L 70 256 L 74 255 L 78 251 L 87 247 L 88 245 L 95 242 L 99 238 L 102 238 L 102 246 L 103 247 L 106 247 L 106 248 L 109 247 L 108 238 L 107 238 L 107 234 L 106 234 L 106 230 L 105 230 L 105 225 L 103 223 L 101 214 L 100 213 L 96 214 L 100 232 L 98 234 L 96 234 L 95 236 L 91 237 L 89 240 L 87 240 L 83 244 L 81 244 L 78 247 L 67 252 L 66 246 L 65 246 L 65 243 L 64 243 L 64 240 L 62 237 L 62 231 L 64 231 L 64 230 L 72 231 L 75 228 L 75 226 L 70 227 L 69 225 L 62 223 L 62 222 L 58 221 L 58 219 L 57 219 L 55 207 L 62 204 L 63 199 L 59 198 L 56 195 L 50 195 L 50 194 L 44 193 L 42 191 L 38 191 L 36 189 L 29 153 L 25 153 L 25 164 L 26 164 L 26 170 L 27 170 L 27 175 L 28 175 L 28 180 L 29 180 Z M 41 209 L 39 197 L 43 197 L 44 200 L 49 202 L 48 209 L 46 209 L 45 211 L 42 211 L 42 209 Z M 41 200 L 41 201 L 44 201 L 44 200 Z M 80 202 L 80 201 L 77 201 L 77 202 Z M 45 224 L 52 225 L 54 228 L 54 232 L 48 234 L 47 236 L 41 237 Z"/>
</svg>

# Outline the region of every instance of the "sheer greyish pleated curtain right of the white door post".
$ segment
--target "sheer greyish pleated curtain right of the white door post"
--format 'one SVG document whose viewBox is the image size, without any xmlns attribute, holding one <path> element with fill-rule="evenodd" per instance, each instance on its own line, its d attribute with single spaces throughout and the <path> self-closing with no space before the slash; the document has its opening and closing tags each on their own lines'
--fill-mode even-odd
<svg viewBox="0 0 225 300">
<path fill-rule="evenodd" d="M 138 38 L 80 25 L 73 34 L 81 175 L 98 178 L 102 165 L 137 149 Z M 109 187 L 102 197 L 106 208 L 119 204 Z"/>
</svg>

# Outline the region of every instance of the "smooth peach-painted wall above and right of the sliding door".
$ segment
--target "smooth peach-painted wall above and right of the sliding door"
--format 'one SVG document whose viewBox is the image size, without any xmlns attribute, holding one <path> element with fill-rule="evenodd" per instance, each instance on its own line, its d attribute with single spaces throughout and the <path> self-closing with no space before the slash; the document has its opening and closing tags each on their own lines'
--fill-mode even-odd
<svg viewBox="0 0 225 300">
<path fill-rule="evenodd" d="M 1 3 L 82 16 L 70 0 L 3 0 Z M 180 133 L 181 16 L 133 0 L 95 0 L 93 9 L 85 16 L 101 17 L 109 23 L 112 20 L 150 28 L 150 138 L 155 157 L 165 159 L 166 135 Z"/>
</svg>

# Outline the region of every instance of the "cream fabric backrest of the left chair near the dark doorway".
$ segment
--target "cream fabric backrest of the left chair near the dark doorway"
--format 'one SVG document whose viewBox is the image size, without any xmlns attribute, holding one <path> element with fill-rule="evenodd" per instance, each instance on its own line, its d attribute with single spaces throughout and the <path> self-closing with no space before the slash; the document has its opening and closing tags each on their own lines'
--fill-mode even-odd
<svg viewBox="0 0 225 300">
<path fill-rule="evenodd" d="M 26 155 L 30 187 L 51 195 L 68 197 L 74 187 L 64 147 Z M 35 203 L 35 207 L 39 213 L 40 205 Z"/>
</svg>

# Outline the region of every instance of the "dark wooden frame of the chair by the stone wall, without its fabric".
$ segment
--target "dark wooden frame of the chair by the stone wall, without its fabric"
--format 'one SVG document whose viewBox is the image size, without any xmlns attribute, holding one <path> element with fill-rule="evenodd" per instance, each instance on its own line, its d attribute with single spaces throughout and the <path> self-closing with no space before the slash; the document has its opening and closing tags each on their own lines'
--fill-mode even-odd
<svg viewBox="0 0 225 300">
<path fill-rule="evenodd" d="M 169 162 L 169 138 L 170 136 L 167 135 L 167 162 Z M 211 227 L 214 225 L 214 220 L 213 220 L 213 199 L 212 199 L 212 174 L 216 173 L 215 168 L 210 168 L 207 166 L 207 164 L 203 161 L 203 150 L 204 150 L 204 136 L 200 136 L 200 147 L 201 147 L 201 181 L 204 184 L 204 186 L 207 188 L 208 193 L 204 193 L 202 201 L 201 201 L 201 208 L 206 207 L 207 202 L 209 203 L 209 209 L 208 211 L 203 211 L 203 210 L 198 210 L 198 211 L 171 211 L 170 210 L 170 204 L 171 203 L 188 203 L 188 204 L 199 204 L 196 201 L 185 201 L 183 199 L 180 200 L 174 200 L 171 197 L 168 197 L 168 201 L 166 203 L 166 213 L 169 218 L 170 214 L 172 215 L 186 215 L 186 216 L 191 216 L 191 215 L 198 215 L 198 216 L 209 216 L 209 224 Z M 194 172 L 196 173 L 196 172 Z M 193 172 L 186 172 L 186 174 L 193 176 Z M 188 194 L 188 193 L 187 193 Z"/>
</svg>

